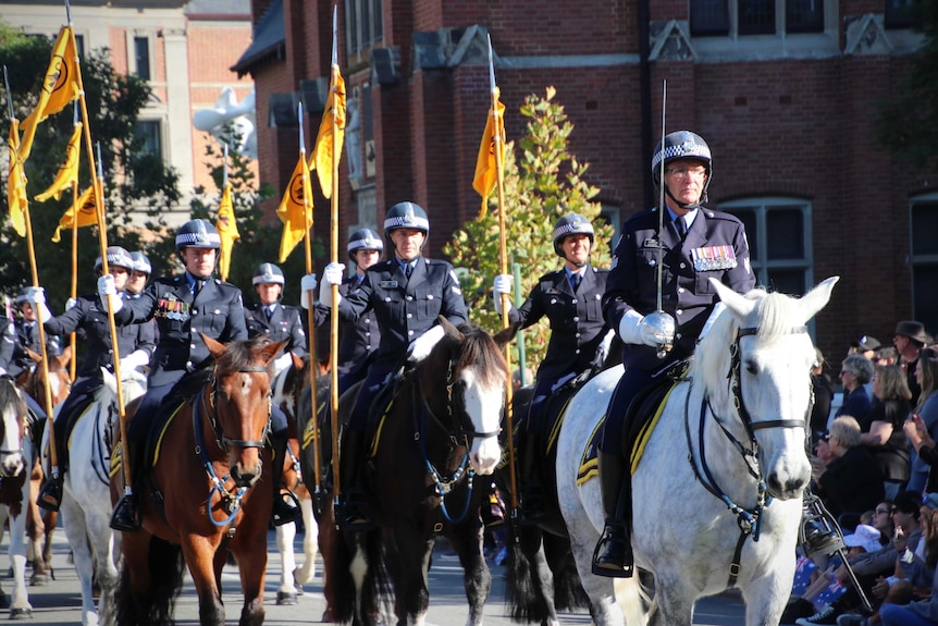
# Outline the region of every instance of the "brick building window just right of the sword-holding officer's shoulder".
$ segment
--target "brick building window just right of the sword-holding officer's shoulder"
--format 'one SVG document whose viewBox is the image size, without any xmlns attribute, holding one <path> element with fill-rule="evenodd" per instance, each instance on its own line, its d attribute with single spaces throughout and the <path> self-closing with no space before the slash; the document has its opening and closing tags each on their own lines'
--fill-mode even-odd
<svg viewBox="0 0 938 626">
<path fill-rule="evenodd" d="M 797 198 L 749 198 L 719 209 L 745 225 L 756 283 L 801 295 L 812 285 L 811 205 Z"/>
</svg>

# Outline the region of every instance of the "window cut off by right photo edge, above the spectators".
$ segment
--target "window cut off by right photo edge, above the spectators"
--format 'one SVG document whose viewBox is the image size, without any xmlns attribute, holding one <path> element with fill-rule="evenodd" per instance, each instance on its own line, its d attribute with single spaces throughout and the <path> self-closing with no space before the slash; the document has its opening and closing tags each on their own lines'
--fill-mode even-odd
<svg viewBox="0 0 938 626">
<path fill-rule="evenodd" d="M 938 196 L 912 200 L 910 207 L 912 317 L 929 332 L 938 330 Z M 931 229 L 931 230 L 926 230 Z"/>
</svg>

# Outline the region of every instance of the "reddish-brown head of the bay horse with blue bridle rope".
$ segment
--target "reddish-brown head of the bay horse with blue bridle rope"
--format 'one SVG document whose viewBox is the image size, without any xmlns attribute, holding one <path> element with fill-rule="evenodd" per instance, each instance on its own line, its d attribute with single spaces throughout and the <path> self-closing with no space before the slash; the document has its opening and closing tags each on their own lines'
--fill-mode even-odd
<svg viewBox="0 0 938 626">
<path fill-rule="evenodd" d="M 201 337 L 214 358 L 211 404 L 231 477 L 238 487 L 251 487 L 263 467 L 260 450 L 270 419 L 271 365 L 286 342 L 271 343 L 260 335 L 223 345 Z"/>
</svg>

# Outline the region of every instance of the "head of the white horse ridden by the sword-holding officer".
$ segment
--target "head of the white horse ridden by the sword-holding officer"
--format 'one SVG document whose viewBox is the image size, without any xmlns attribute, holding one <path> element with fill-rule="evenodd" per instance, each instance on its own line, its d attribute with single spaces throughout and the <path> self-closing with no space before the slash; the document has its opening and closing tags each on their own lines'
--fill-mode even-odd
<svg viewBox="0 0 938 626">
<path fill-rule="evenodd" d="M 763 290 L 742 296 L 711 281 L 727 310 L 701 340 L 692 375 L 704 380 L 717 412 L 736 407 L 768 493 L 779 500 L 801 496 L 811 479 L 804 442 L 814 345 L 805 324 L 837 281 L 829 278 L 801 298 Z"/>
</svg>

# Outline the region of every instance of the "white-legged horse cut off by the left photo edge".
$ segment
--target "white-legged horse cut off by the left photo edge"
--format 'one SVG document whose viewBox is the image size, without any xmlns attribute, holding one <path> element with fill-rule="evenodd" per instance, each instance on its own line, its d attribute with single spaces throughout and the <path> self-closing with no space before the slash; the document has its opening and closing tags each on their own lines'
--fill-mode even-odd
<svg viewBox="0 0 938 626">
<path fill-rule="evenodd" d="M 10 606 L 10 618 L 33 616 L 26 593 L 26 507 L 29 503 L 29 472 L 33 440 L 26 429 L 26 403 L 8 378 L 0 378 L 0 537 L 10 523 L 10 564 L 13 568 L 13 599 L 0 590 L 0 604 Z"/>
</svg>

